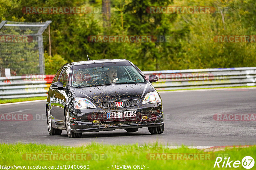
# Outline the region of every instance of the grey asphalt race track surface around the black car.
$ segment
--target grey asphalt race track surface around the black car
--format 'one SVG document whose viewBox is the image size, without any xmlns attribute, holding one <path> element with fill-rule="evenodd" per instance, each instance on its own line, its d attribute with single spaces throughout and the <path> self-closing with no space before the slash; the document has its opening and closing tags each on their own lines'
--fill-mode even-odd
<svg viewBox="0 0 256 170">
<path fill-rule="evenodd" d="M 256 145 L 256 121 L 216 121 L 214 114 L 255 114 L 256 89 L 218 89 L 160 92 L 165 114 L 165 129 L 150 135 L 147 128 L 87 132 L 82 138 L 68 138 L 66 131 L 50 136 L 45 116 L 45 101 L 0 105 L 0 114 L 33 114 L 31 121 L 0 121 L 1 143 L 42 143 L 54 145 L 104 144 L 164 145 Z"/>
</svg>

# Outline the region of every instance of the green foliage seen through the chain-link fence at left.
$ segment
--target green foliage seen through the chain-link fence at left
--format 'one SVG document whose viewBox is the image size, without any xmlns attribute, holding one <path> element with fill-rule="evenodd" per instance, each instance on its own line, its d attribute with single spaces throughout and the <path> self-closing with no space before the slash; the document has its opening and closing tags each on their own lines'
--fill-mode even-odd
<svg viewBox="0 0 256 170">
<path fill-rule="evenodd" d="M 16 18 L 12 16 L 13 21 L 23 22 L 24 18 Z M 31 28 L 27 29 L 1 29 L 1 42 L 0 42 L 0 68 L 10 68 L 11 75 L 23 74 L 39 74 L 39 54 L 38 42 L 29 39 L 32 38 L 34 32 Z M 2 42 L 4 35 L 23 35 L 27 38 L 24 42 Z M 15 35 L 15 36 L 14 36 Z M 29 35 L 28 37 L 26 37 Z M 22 39 L 23 39 L 22 38 Z M 16 36 L 16 40 L 17 40 Z M 2 73 L 3 76 L 3 73 Z"/>
</svg>

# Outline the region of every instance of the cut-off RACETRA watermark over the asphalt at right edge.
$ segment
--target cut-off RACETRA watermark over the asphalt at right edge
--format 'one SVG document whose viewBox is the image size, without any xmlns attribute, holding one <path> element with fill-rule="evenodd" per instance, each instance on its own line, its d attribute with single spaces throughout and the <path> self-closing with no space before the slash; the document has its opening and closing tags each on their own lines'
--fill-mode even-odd
<svg viewBox="0 0 256 170">
<path fill-rule="evenodd" d="M 214 114 L 217 121 L 255 121 L 256 114 Z"/>
</svg>

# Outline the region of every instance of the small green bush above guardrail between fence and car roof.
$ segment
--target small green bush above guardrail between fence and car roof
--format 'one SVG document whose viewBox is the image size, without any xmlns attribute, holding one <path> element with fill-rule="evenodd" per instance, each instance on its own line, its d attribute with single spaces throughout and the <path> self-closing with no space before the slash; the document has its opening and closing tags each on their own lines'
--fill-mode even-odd
<svg viewBox="0 0 256 170">
<path fill-rule="evenodd" d="M 53 56 L 44 53 L 45 74 L 56 74 L 61 66 L 67 63 L 59 54 Z"/>
</svg>

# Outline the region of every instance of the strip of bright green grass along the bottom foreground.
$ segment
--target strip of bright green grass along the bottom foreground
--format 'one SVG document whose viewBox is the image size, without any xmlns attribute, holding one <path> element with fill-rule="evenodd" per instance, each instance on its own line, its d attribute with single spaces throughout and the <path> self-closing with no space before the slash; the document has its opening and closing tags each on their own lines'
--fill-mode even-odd
<svg viewBox="0 0 256 170">
<path fill-rule="evenodd" d="M 71 139 L 68 139 L 71 141 Z M 67 140 L 67 141 L 68 141 Z M 214 155 L 228 154 L 231 160 L 240 160 L 244 156 L 252 156 L 256 158 L 256 145 L 248 148 L 223 148 L 224 151 L 206 152 L 206 150 L 189 149 L 181 146 L 178 149 L 169 149 L 163 145 L 102 145 L 92 143 L 86 146 L 68 147 L 55 145 L 38 145 L 38 144 L 0 144 L 0 165 L 19 165 L 19 166 L 57 166 L 57 165 L 89 165 L 90 169 L 110 169 L 111 165 L 146 165 L 148 170 L 180 170 L 180 169 L 216 169 L 213 168 L 215 157 L 212 160 L 148 160 L 148 153 L 211 153 Z M 89 153 L 89 154 L 105 154 L 106 159 L 103 160 L 26 160 L 26 155 L 31 153 Z M 22 157 L 23 156 L 23 157 Z M 39 157 L 41 158 L 41 157 Z M 224 158 L 224 157 L 223 157 Z M 234 162 L 234 161 L 233 161 Z M 223 161 L 220 166 L 222 166 Z M 233 164 L 233 163 L 232 163 Z M 231 165 L 232 165 L 231 164 Z M 255 168 L 256 165 L 254 165 Z M 109 167 L 109 168 L 108 168 Z M 142 166 L 143 167 L 143 166 Z M 65 169 L 65 168 L 64 168 Z M 113 168 L 112 168 L 113 169 Z M 133 167 L 131 168 L 133 169 Z M 218 168 L 217 168 L 218 169 Z M 228 169 L 244 169 L 242 165 L 238 168 Z M 253 168 L 252 168 L 253 169 Z"/>
</svg>

